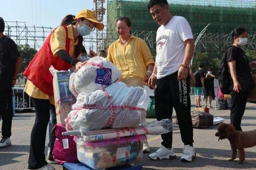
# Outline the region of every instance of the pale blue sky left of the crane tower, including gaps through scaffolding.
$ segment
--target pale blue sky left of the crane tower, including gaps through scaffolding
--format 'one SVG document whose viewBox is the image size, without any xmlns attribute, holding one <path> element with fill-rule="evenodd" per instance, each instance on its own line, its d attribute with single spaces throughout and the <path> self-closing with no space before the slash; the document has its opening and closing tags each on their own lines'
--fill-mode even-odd
<svg viewBox="0 0 256 170">
<path fill-rule="evenodd" d="M 2 1 L 0 0 L 0 2 Z M 104 3 L 103 7 L 107 8 L 106 3 Z M 35 36 L 48 36 L 52 30 L 50 28 L 59 26 L 66 15 L 76 15 L 80 10 L 94 10 L 94 8 L 94 0 L 5 0 L 1 3 L 0 17 L 4 18 L 7 22 L 6 26 L 14 26 L 11 28 L 11 38 L 18 39 L 15 36 L 19 34 L 19 41 L 15 41 L 17 44 L 28 43 L 30 47 L 34 47 L 38 50 L 44 42 L 44 40 L 40 41 L 42 38 L 37 38 L 36 43 L 34 43 L 34 40 L 25 40 L 25 35 L 28 35 L 28 39 L 34 39 L 32 37 L 32 35 L 34 35 L 33 26 L 41 27 L 41 29 L 36 28 Z M 20 28 L 15 27 L 17 26 L 16 21 Z M 26 30 L 24 30 L 25 23 L 23 22 L 26 22 L 26 27 L 28 27 L 27 30 L 30 33 L 27 34 Z M 106 26 L 106 15 L 104 15 L 103 24 Z M 19 32 L 17 32 L 17 29 L 19 29 Z M 42 33 L 42 30 L 45 31 L 45 34 Z M 4 34 L 7 35 L 7 29 Z M 96 50 L 95 36 L 95 32 L 92 32 L 88 36 L 84 36 L 84 46 L 86 47 L 86 50 L 89 48 Z"/>
</svg>

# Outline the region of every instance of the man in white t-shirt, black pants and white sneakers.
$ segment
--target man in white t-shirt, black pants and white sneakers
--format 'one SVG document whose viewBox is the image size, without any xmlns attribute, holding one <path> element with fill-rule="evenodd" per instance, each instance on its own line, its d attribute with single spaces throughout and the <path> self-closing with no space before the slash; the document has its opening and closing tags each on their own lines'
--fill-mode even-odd
<svg viewBox="0 0 256 170">
<path fill-rule="evenodd" d="M 182 16 L 172 16 L 166 0 L 150 0 L 148 10 L 161 25 L 156 34 L 156 64 L 148 80 L 155 89 L 157 120 L 172 119 L 174 107 L 180 127 L 182 162 L 196 157 L 193 147 L 193 128 L 190 115 L 189 65 L 194 53 L 194 40 L 190 25 Z M 161 147 L 149 157 L 154 160 L 175 159 L 172 132 L 162 134 Z"/>
</svg>

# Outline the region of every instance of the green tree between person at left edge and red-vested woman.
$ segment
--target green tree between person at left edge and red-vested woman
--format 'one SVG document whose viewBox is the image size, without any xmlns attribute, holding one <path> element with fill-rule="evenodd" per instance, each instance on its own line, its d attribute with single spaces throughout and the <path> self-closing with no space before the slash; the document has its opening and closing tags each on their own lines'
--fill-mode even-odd
<svg viewBox="0 0 256 170">
<path fill-rule="evenodd" d="M 20 69 L 20 73 L 18 74 L 18 77 L 22 78 L 23 77 L 22 73 L 24 72 L 24 70 L 26 69 L 26 67 L 32 60 L 32 58 L 36 55 L 37 50 L 34 48 L 31 48 L 28 44 L 25 44 L 25 45 L 18 45 L 18 51 L 20 52 L 20 55 L 23 59 L 23 64 Z"/>
</svg>

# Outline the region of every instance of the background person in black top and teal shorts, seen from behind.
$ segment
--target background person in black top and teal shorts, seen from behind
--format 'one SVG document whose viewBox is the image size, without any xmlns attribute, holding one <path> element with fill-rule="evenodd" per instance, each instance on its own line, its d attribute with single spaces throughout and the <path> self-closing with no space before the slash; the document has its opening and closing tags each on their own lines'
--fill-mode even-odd
<svg viewBox="0 0 256 170">
<path fill-rule="evenodd" d="M 195 100 L 196 100 L 196 107 L 202 107 L 200 105 L 200 97 L 203 93 L 204 90 L 204 63 L 201 63 L 199 65 L 198 71 L 196 71 L 195 74 L 195 79 L 196 79 L 196 84 L 195 84 Z"/>
</svg>

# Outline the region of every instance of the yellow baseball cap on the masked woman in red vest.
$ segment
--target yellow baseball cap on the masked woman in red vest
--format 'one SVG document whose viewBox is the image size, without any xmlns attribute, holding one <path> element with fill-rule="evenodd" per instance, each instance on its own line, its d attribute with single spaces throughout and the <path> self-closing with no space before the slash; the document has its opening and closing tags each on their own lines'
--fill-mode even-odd
<svg viewBox="0 0 256 170">
<path fill-rule="evenodd" d="M 94 12 L 91 10 L 82 10 L 82 11 L 78 12 L 75 19 L 78 19 L 78 18 L 86 18 L 87 20 L 94 22 L 95 23 L 94 27 L 99 30 L 103 30 L 103 28 L 104 28 L 104 24 L 102 24 L 101 22 L 98 22 L 96 20 L 96 16 L 95 16 Z"/>
</svg>

